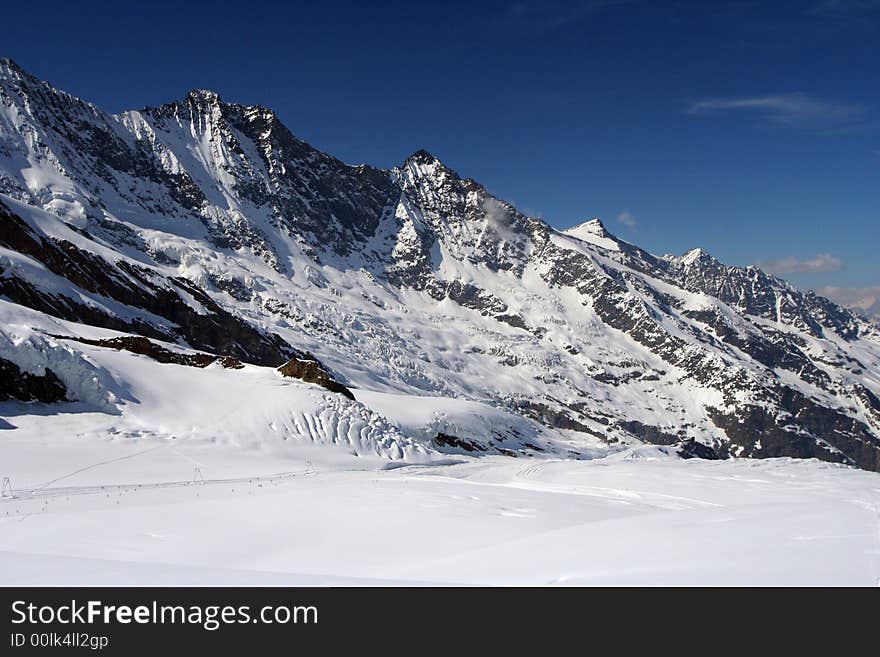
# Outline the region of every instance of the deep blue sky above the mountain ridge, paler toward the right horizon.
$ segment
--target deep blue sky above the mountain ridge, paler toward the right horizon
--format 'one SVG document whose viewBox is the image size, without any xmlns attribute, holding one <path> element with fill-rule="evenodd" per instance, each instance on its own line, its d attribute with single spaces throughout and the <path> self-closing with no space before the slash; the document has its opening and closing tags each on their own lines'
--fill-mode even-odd
<svg viewBox="0 0 880 657">
<path fill-rule="evenodd" d="M 555 226 L 880 285 L 880 2 L 379 5 L 17 1 L 0 55 L 111 111 L 213 89 Z"/>
</svg>

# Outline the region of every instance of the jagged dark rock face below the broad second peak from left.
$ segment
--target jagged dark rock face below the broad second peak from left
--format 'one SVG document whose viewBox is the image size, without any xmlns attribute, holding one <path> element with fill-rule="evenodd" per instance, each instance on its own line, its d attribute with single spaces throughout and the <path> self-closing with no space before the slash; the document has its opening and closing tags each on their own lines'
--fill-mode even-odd
<svg viewBox="0 0 880 657">
<path fill-rule="evenodd" d="M 188 182 L 194 170 L 201 187 L 192 201 L 183 201 L 199 213 L 216 245 L 258 245 L 276 265 L 274 231 L 349 255 L 373 235 L 397 198 L 382 172 L 346 166 L 294 137 L 272 111 L 224 103 L 212 92 L 193 91 L 183 101 L 126 112 L 119 120 L 149 145 L 169 175 Z M 188 157 L 181 154 L 181 131 L 198 144 Z M 212 189 L 216 181 L 220 195 Z M 264 225 L 253 221 L 255 215 L 266 218 Z"/>
</svg>

